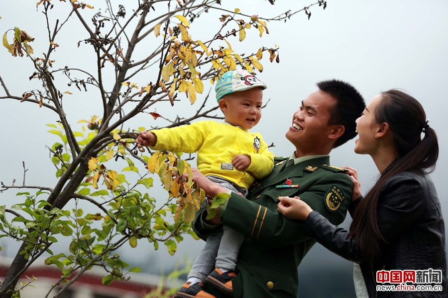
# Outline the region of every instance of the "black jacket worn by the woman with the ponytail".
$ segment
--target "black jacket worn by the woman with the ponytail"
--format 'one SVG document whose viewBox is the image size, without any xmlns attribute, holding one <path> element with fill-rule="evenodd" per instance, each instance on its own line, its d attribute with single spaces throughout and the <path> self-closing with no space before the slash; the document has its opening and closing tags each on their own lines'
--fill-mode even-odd
<svg viewBox="0 0 448 298">
<path fill-rule="evenodd" d="M 359 201 L 352 202 L 352 215 Z M 339 256 L 359 263 L 370 298 L 448 298 L 445 225 L 433 182 L 427 175 L 403 172 L 391 177 L 381 190 L 377 207 L 378 226 L 388 243 L 380 243 L 381 257 L 365 261 L 348 231 L 330 224 L 313 211 L 305 233 Z M 442 292 L 380 292 L 379 270 L 442 270 Z M 432 284 L 435 285 L 435 284 Z"/>
</svg>

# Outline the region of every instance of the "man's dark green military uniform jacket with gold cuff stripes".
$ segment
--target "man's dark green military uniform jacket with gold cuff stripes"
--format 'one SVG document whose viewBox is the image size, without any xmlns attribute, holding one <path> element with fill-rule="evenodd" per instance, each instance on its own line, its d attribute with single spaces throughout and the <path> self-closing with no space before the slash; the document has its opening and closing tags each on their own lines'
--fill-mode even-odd
<svg viewBox="0 0 448 298">
<path fill-rule="evenodd" d="M 245 236 L 232 280 L 235 298 L 299 295 L 297 267 L 316 241 L 305 235 L 303 221 L 287 220 L 278 212 L 279 196 L 300 197 L 333 224 L 341 224 L 345 218 L 353 191 L 350 177 L 341 168 L 330 166 L 328 155 L 285 169 L 287 160 L 274 158 L 271 174 L 254 182 L 247 199 L 234 193 L 228 199 L 222 223 Z M 288 183 L 293 187 L 285 186 Z M 202 238 L 221 227 L 202 228 L 204 213 L 199 211 L 193 222 Z M 208 286 L 207 290 L 224 297 Z"/>
</svg>

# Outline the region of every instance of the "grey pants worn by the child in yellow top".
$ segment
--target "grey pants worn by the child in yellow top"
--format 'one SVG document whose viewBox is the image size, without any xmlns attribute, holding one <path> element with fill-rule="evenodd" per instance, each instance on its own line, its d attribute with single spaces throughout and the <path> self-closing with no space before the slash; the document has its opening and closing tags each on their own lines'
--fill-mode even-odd
<svg viewBox="0 0 448 298">
<path fill-rule="evenodd" d="M 207 178 L 226 189 L 247 196 L 247 189 L 239 187 L 224 178 L 212 175 L 208 175 Z M 236 258 L 243 240 L 244 236 L 241 233 L 228 226 L 224 226 L 222 232 L 210 234 L 207 237 L 206 245 L 196 258 L 188 278 L 196 277 L 205 282 L 206 277 L 216 267 L 235 270 Z"/>
</svg>

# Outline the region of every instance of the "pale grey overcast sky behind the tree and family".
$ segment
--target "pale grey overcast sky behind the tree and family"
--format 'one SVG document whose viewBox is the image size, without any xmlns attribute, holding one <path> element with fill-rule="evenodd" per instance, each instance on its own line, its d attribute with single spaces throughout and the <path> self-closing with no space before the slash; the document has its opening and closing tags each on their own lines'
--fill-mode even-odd
<svg viewBox="0 0 448 298">
<path fill-rule="evenodd" d="M 53 2 L 54 12 L 63 15 L 68 3 Z M 96 12 L 104 1 L 87 2 L 95 6 L 94 10 L 82 11 L 86 15 L 85 19 L 90 20 L 88 15 Z M 227 9 L 238 7 L 243 13 L 258 14 L 260 17 L 270 17 L 288 9 L 297 10 L 311 2 L 277 0 L 275 5 L 271 5 L 268 1 L 261 0 L 222 0 L 223 7 Z M 256 51 L 261 46 L 280 46 L 280 64 L 270 64 L 267 57 L 262 60 L 264 71 L 259 74 L 259 78 L 268 85 L 268 89 L 264 91 L 264 99 L 271 101 L 263 110 L 263 117 L 253 131 L 260 132 L 268 144 L 274 142 L 276 147 L 272 151 L 276 155 L 289 156 L 294 148 L 284 138 L 284 134 L 291 125 L 293 111 L 300 106 L 301 100 L 316 89 L 317 81 L 327 78 L 349 81 L 358 88 L 367 102 L 382 90 L 402 88 L 422 103 L 428 119 L 431 120 L 430 126 L 438 133 L 440 157 L 431 176 L 440 196 L 443 213 L 447 216 L 448 199 L 444 194 L 448 192 L 448 184 L 443 173 L 448 167 L 448 1 L 329 0 L 326 10 L 313 6 L 311 11 L 310 20 L 301 12 L 286 23 L 268 23 L 270 34 L 264 35 L 263 38 L 259 38 L 257 32 L 251 29 L 247 32 L 247 40 L 242 43 L 236 38 L 229 39 L 233 50 L 239 53 Z M 127 13 L 131 13 L 130 7 Z M 193 39 L 205 40 L 205 36 L 213 34 L 220 26 L 220 14 L 218 10 L 211 9 L 208 15 L 195 21 L 190 30 Z M 47 51 L 48 38 L 43 27 L 44 18 L 40 11 L 36 11 L 34 2 L 0 1 L 0 16 L 1 34 L 14 26 L 20 27 L 36 38 L 32 43 L 36 56 L 41 57 L 41 53 Z M 53 14 L 51 28 L 55 18 Z M 62 16 L 60 18 L 65 19 Z M 72 17 L 63 30 L 64 36 L 56 40 L 60 47 L 53 56 L 56 59 L 55 67 L 63 68 L 68 65 L 90 68 L 89 63 L 92 60 L 89 57 L 93 54 L 92 49 L 84 44 L 79 48 L 76 45 L 79 40 L 87 38 L 77 18 Z M 9 41 L 11 40 L 10 33 Z M 0 75 L 12 94 L 20 96 L 26 90 L 39 87 L 36 80 L 28 80 L 32 72 L 33 69 L 26 58 L 12 58 L 6 49 L 1 48 Z M 153 77 L 151 73 L 146 75 L 147 77 L 140 76 L 133 82 L 137 82 L 139 86 L 146 84 Z M 64 107 L 70 123 L 80 131 L 81 125 L 77 124 L 80 119 L 89 119 L 94 114 L 101 114 L 100 100 L 94 92 L 84 93 L 75 87 L 66 88 L 74 94 L 64 96 Z M 212 94 L 214 95 L 214 91 Z M 4 91 L 0 89 L 0 96 L 3 95 Z M 180 98 L 184 98 L 184 95 L 180 95 Z M 200 96 L 198 100 L 202 98 L 203 96 Z M 214 104 L 213 100 L 209 102 L 210 106 Z M 10 184 L 12 179 L 16 178 L 16 184 L 21 183 L 23 160 L 29 169 L 26 184 L 54 186 L 54 168 L 45 146 L 59 141 L 56 136 L 46 133 L 49 130 L 46 124 L 55 123 L 57 117 L 34 104 L 19 103 L 11 99 L 2 99 L 0 107 L 0 126 L 4 129 L 0 181 Z M 188 100 L 177 102 L 174 107 L 163 104 L 157 106 L 157 112 L 164 116 L 185 115 L 185 111 L 192 114 L 196 109 L 198 103 L 190 106 Z M 133 129 L 165 124 L 163 120 L 154 121 L 147 114 L 142 114 L 129 122 L 127 127 Z M 352 140 L 335 149 L 332 153 L 332 164 L 357 168 L 365 192 L 377 178 L 378 171 L 369 156 L 355 154 L 353 147 Z M 14 190 L 1 193 L 0 204 L 10 206 L 18 202 L 20 198 L 15 197 L 15 193 Z M 166 197 L 160 189 L 151 195 Z M 0 240 L 0 245 L 3 249 L 5 245 L 9 247 L 0 252 L 0 256 L 12 256 L 15 253 L 12 248 L 14 244 L 6 244 L 4 238 Z M 151 246 L 139 250 L 140 261 L 143 258 L 153 264 L 160 263 L 160 260 L 164 263 L 174 263 L 175 259 L 182 259 L 184 254 L 197 254 L 199 245 L 201 243 L 186 240 L 179 245 L 174 258 L 165 258 L 165 247 L 161 246 L 155 254 Z M 122 253 L 129 256 L 134 254 L 131 249 Z M 315 262 L 319 263 L 319 260 Z"/>
</svg>

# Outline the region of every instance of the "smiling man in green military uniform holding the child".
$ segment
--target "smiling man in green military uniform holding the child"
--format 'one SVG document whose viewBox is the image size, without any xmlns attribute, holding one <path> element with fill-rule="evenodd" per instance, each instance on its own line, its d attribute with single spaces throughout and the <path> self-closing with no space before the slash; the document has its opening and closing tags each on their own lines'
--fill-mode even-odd
<svg viewBox="0 0 448 298">
<path fill-rule="evenodd" d="M 194 171 L 194 180 L 207 194 L 230 195 L 213 220 L 205 220 L 204 210 L 197 213 L 196 233 L 205 238 L 222 223 L 245 235 L 235 273 L 211 274 L 236 298 L 298 297 L 297 267 L 316 241 L 304 234 L 303 222 L 287 220 L 277 211 L 278 197 L 300 197 L 333 224 L 345 218 L 353 183 L 342 168 L 330 165 L 329 153 L 355 137 L 355 120 L 365 103 L 348 83 L 327 80 L 317 86 L 294 113 L 286 133 L 296 150 L 289 158 L 275 158 L 271 174 L 254 182 L 247 199 Z M 208 285 L 207 291 L 226 297 Z M 191 297 L 201 293 L 204 289 L 198 288 Z"/>
</svg>

